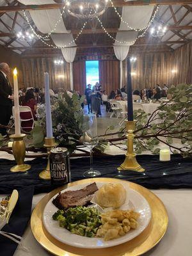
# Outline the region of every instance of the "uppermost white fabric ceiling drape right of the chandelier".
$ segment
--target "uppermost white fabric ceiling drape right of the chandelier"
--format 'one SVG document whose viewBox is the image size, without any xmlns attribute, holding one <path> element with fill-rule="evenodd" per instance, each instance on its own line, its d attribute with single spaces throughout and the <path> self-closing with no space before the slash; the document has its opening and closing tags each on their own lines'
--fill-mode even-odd
<svg viewBox="0 0 192 256">
<path fill-rule="evenodd" d="M 141 5 L 141 6 L 124 6 L 122 8 L 122 20 L 127 22 L 132 28 L 143 29 L 147 26 L 154 6 L 152 5 Z M 127 24 L 121 21 L 120 30 L 129 30 Z"/>
</svg>

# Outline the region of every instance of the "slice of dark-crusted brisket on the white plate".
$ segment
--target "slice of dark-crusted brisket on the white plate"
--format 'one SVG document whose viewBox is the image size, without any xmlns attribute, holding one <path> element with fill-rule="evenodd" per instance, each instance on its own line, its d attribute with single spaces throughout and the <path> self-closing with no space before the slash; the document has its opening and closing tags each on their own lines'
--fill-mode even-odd
<svg viewBox="0 0 192 256">
<path fill-rule="evenodd" d="M 90 204 L 93 194 L 97 190 L 97 184 L 93 182 L 83 189 L 66 191 L 64 193 L 60 192 L 58 196 L 52 200 L 52 204 L 54 204 L 60 210 L 76 207 L 78 205 L 86 206 Z"/>
</svg>

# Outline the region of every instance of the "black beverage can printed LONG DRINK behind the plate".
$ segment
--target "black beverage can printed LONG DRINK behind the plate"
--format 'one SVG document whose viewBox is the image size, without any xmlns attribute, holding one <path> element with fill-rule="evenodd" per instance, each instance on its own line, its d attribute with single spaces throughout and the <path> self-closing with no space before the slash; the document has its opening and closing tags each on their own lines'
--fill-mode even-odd
<svg viewBox="0 0 192 256">
<path fill-rule="evenodd" d="M 49 163 L 51 184 L 63 185 L 70 182 L 70 160 L 67 148 L 52 148 Z"/>
</svg>

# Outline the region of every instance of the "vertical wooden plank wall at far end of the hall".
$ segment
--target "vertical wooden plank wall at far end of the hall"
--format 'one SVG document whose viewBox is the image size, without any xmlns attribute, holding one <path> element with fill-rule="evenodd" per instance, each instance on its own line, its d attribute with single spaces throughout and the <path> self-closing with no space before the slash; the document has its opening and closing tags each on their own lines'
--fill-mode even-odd
<svg viewBox="0 0 192 256">
<path fill-rule="evenodd" d="M 192 83 L 192 43 L 183 45 L 174 52 L 143 52 L 134 54 L 136 63 L 132 63 L 133 90 L 160 85 Z M 106 60 L 101 56 L 99 60 L 99 76 L 102 89 L 108 93 L 119 87 L 119 61 Z M 98 60 L 98 56 L 90 57 Z M 50 87 L 55 90 L 63 88 L 70 90 L 70 68 L 64 61 L 62 66 L 54 65 L 54 60 L 46 58 L 23 58 L 22 74 L 25 87 L 44 87 L 44 72 L 50 74 Z M 176 73 L 172 73 L 176 70 Z M 21 75 L 22 75 L 21 74 Z M 22 77 L 22 76 L 20 76 Z M 123 61 L 123 85 L 127 84 L 127 61 Z M 20 86 L 21 87 L 21 86 Z M 84 92 L 86 87 L 85 61 L 74 61 L 74 88 Z"/>
</svg>

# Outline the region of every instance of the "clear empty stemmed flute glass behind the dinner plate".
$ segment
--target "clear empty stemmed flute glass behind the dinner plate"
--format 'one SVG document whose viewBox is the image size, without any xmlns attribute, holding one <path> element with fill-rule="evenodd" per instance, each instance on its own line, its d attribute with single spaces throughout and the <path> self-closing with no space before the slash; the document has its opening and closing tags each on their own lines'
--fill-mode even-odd
<svg viewBox="0 0 192 256">
<path fill-rule="evenodd" d="M 93 170 L 93 147 L 99 143 L 97 135 L 97 117 L 96 115 L 84 116 L 83 118 L 83 145 L 90 149 L 90 170 L 83 173 L 84 177 L 95 177 L 101 173 L 97 170 Z"/>
</svg>

